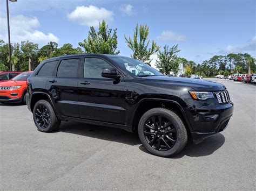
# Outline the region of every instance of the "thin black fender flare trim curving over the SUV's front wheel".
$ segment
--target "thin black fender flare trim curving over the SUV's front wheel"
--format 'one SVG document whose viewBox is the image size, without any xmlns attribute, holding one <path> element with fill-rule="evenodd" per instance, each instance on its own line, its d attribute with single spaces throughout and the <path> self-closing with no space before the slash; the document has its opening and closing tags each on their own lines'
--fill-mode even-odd
<svg viewBox="0 0 256 191">
<path fill-rule="evenodd" d="M 136 114 L 136 112 L 137 112 L 137 109 L 139 108 L 139 105 L 140 105 L 141 103 L 145 102 L 145 101 L 158 101 L 158 102 L 159 102 L 159 101 L 163 101 L 163 102 L 170 102 L 170 103 L 175 104 L 175 105 L 179 108 L 181 114 L 183 115 L 183 117 L 184 117 L 184 119 L 185 119 L 185 121 L 186 121 L 186 124 L 187 124 L 188 129 L 190 130 L 190 132 L 193 132 L 193 131 L 192 131 L 192 128 L 191 128 L 191 124 L 190 124 L 190 122 L 188 121 L 187 115 L 186 115 L 185 111 L 183 110 L 183 108 L 181 107 L 180 103 L 178 103 L 177 101 L 174 101 L 174 100 L 167 100 L 167 99 L 164 99 L 164 98 L 142 98 L 142 100 L 140 100 L 140 101 L 137 103 L 136 108 L 135 108 L 135 112 L 133 112 L 133 115 L 132 115 L 132 122 L 133 122 L 133 120 L 134 120 L 134 117 L 135 117 L 135 114 Z M 182 100 L 180 99 L 180 101 L 182 101 Z M 185 104 L 185 103 L 183 103 L 183 104 Z M 185 105 L 186 105 L 186 104 L 185 104 Z"/>
</svg>

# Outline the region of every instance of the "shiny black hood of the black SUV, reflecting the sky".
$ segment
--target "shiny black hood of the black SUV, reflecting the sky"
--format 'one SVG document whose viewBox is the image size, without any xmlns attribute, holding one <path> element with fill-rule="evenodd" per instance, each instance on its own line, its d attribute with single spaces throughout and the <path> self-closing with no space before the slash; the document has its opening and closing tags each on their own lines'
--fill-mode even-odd
<svg viewBox="0 0 256 191">
<path fill-rule="evenodd" d="M 177 84 L 178 86 L 192 87 L 197 91 L 219 91 L 224 90 L 226 87 L 223 84 L 211 82 L 207 80 L 191 79 L 187 77 L 167 77 L 167 76 L 146 76 L 142 79 L 162 81 L 163 83 Z"/>
</svg>

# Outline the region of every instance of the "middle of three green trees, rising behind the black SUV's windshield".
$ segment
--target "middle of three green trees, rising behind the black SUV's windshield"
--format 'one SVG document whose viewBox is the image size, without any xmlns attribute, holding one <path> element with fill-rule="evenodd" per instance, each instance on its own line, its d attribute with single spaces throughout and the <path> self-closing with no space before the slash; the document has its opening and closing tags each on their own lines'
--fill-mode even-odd
<svg viewBox="0 0 256 191">
<path fill-rule="evenodd" d="M 154 43 L 154 40 L 152 40 L 152 45 L 149 48 L 150 40 L 148 39 L 148 36 L 149 26 L 140 25 L 138 29 L 137 24 L 133 31 L 133 39 L 131 37 L 127 39 L 125 35 L 124 38 L 127 46 L 132 50 L 131 57 L 150 65 L 150 62 L 152 61 L 152 59 L 150 60 L 150 56 L 159 51 L 160 47 Z"/>
</svg>

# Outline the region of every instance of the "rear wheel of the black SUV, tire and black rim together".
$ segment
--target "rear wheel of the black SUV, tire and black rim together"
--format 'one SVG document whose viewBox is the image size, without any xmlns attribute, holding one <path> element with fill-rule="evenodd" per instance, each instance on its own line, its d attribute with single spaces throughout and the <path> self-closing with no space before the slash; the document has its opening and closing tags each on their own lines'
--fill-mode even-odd
<svg viewBox="0 0 256 191">
<path fill-rule="evenodd" d="M 42 132 L 55 131 L 61 122 L 55 115 L 51 104 L 46 100 L 39 100 L 35 104 L 33 108 L 33 119 L 38 131 Z"/>
</svg>

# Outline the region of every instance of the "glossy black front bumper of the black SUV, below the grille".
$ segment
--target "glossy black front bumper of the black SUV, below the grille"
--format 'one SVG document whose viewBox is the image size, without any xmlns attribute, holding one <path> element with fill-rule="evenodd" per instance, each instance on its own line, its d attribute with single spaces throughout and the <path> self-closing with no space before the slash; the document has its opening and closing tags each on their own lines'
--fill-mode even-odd
<svg viewBox="0 0 256 191">
<path fill-rule="evenodd" d="M 213 136 L 227 128 L 233 115 L 234 104 L 219 104 L 215 99 L 202 101 L 187 100 L 190 105 L 185 113 L 191 125 L 193 142 L 198 144 L 207 137 Z"/>
</svg>

